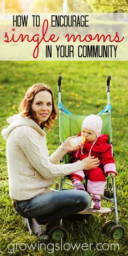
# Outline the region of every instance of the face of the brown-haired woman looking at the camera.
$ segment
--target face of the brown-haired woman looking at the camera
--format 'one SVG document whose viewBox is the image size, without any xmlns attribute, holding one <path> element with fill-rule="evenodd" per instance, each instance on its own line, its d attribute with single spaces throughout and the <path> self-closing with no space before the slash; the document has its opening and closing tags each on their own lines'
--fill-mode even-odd
<svg viewBox="0 0 128 256">
<path fill-rule="evenodd" d="M 48 91 L 38 92 L 34 97 L 31 110 L 36 113 L 39 124 L 47 121 L 52 112 L 52 95 Z"/>
</svg>

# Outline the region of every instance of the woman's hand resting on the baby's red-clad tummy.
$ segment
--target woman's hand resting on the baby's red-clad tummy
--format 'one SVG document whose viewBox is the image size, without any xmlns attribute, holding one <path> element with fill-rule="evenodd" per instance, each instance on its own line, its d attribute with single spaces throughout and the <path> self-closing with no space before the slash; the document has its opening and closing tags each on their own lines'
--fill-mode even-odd
<svg viewBox="0 0 128 256">
<path fill-rule="evenodd" d="M 84 170 L 91 170 L 99 166 L 100 159 L 98 159 L 98 157 L 94 158 L 94 156 L 90 156 L 82 159 L 82 163 L 84 163 Z"/>
</svg>

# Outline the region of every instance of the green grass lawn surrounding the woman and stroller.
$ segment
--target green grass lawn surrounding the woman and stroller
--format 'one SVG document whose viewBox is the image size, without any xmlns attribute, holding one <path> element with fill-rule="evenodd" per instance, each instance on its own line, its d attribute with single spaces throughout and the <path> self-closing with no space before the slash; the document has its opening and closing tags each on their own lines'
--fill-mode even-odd
<svg viewBox="0 0 128 256">
<path fill-rule="evenodd" d="M 87 247 L 74 249 L 69 245 L 61 248 L 61 243 L 57 245 L 53 241 L 39 241 L 36 236 L 30 236 L 28 229 L 24 226 L 21 217 L 17 215 L 11 207 L 11 199 L 8 189 L 7 159 L 5 154 L 5 141 L 1 136 L 0 154 L 1 154 L 1 255 L 55 255 L 58 256 L 103 256 L 103 255 L 127 255 L 127 62 L 121 61 L 46 61 L 46 62 L 22 62 L 10 61 L 1 62 L 0 71 L 0 100 L 1 100 L 1 124 L 0 129 L 7 126 L 6 119 L 12 114 L 17 113 L 17 107 L 24 96 L 26 89 L 36 82 L 46 82 L 54 92 L 57 104 L 57 76 L 62 75 L 62 103 L 72 113 L 91 114 L 98 113 L 107 103 L 106 96 L 106 77 L 112 76 L 111 80 L 111 104 L 112 104 L 112 126 L 114 155 L 117 165 L 118 176 L 116 178 L 117 202 L 119 223 L 125 228 L 125 235 L 122 239 L 112 240 L 107 234 L 101 233 L 104 223 L 109 220 L 115 220 L 114 213 L 106 215 L 92 215 L 84 221 L 63 221 L 64 227 L 68 230 L 65 243 L 79 244 L 86 243 L 88 246 L 93 244 L 91 249 Z M 52 153 L 59 145 L 59 123 L 55 121 L 53 130 L 48 132 L 47 143 L 49 153 Z M 103 202 L 104 206 L 111 206 L 111 203 Z M 46 246 L 40 250 L 40 242 Z M 96 248 L 96 245 L 99 248 Z M 105 245 L 105 244 L 108 244 Z M 16 248 L 17 244 L 17 248 Z M 34 248 L 25 248 L 25 245 L 35 246 Z M 112 246 L 113 244 L 113 246 Z M 119 245 L 119 250 L 118 246 Z M 20 247 L 21 245 L 21 247 Z M 53 249 L 54 246 L 54 249 Z M 59 249 L 60 246 L 60 249 Z M 116 246 L 116 248 L 114 248 Z M 85 249 L 87 249 L 85 251 Z M 11 251 L 12 250 L 12 251 Z"/>
</svg>

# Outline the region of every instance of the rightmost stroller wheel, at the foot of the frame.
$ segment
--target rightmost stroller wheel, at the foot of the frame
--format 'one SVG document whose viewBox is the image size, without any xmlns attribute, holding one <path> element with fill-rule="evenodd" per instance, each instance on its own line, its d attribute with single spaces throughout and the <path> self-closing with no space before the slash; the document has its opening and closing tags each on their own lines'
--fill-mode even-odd
<svg viewBox="0 0 128 256">
<path fill-rule="evenodd" d="M 125 230 L 121 225 L 113 226 L 110 230 L 110 235 L 115 240 L 120 239 L 124 235 L 124 233 L 125 233 Z"/>
</svg>

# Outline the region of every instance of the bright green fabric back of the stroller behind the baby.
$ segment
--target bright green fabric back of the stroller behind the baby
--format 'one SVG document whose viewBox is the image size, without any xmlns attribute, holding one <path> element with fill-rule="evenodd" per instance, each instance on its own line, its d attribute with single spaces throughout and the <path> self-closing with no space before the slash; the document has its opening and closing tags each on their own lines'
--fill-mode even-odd
<svg viewBox="0 0 128 256">
<path fill-rule="evenodd" d="M 99 115 L 103 120 L 103 128 L 101 133 L 107 134 L 110 143 L 112 142 L 112 124 L 111 124 L 111 113 L 104 113 Z M 65 141 L 68 137 L 78 135 L 81 131 L 82 121 L 87 116 L 79 116 L 75 114 L 59 114 L 59 132 L 60 132 L 60 143 Z M 66 154 L 63 157 L 63 162 L 69 162 L 69 156 Z"/>
</svg>

